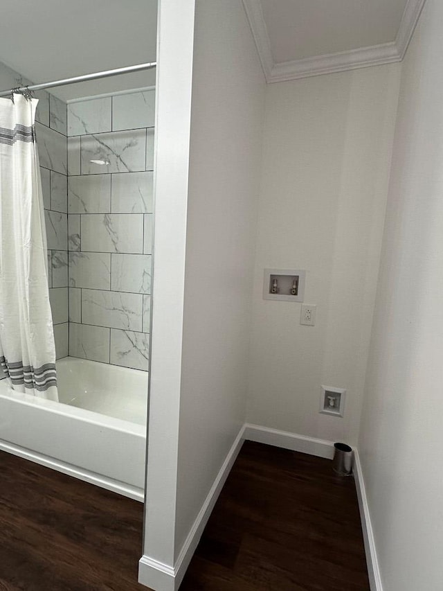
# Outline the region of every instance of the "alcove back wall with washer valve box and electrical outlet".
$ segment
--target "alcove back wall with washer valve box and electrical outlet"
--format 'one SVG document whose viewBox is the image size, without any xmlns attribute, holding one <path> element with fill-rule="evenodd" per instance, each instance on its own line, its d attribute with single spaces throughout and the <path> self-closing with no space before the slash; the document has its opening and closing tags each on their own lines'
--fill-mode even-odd
<svg viewBox="0 0 443 591">
<path fill-rule="evenodd" d="M 266 89 L 248 422 L 356 443 L 386 206 L 399 64 Z M 265 267 L 307 270 L 305 302 L 262 299 Z M 320 386 L 347 389 L 345 417 Z"/>
</svg>

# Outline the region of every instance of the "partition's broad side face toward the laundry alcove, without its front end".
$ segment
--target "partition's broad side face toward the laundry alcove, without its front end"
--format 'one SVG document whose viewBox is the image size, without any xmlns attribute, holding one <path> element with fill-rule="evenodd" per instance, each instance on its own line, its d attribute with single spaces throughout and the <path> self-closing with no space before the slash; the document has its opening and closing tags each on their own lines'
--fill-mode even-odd
<svg viewBox="0 0 443 591">
<path fill-rule="evenodd" d="M 196 3 L 176 552 L 246 418 L 264 76 L 242 3 Z"/>
</svg>

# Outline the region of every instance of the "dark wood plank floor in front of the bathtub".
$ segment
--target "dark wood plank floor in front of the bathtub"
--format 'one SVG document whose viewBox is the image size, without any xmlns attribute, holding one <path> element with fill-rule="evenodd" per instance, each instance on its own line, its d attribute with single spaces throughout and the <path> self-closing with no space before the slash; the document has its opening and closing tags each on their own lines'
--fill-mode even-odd
<svg viewBox="0 0 443 591">
<path fill-rule="evenodd" d="M 143 504 L 0 452 L 1 591 L 143 591 Z"/>
</svg>

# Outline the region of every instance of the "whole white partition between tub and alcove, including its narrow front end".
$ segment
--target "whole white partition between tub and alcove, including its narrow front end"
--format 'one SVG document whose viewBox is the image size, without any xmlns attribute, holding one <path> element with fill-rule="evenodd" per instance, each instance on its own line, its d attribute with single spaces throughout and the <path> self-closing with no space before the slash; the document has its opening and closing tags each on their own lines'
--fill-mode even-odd
<svg viewBox="0 0 443 591">
<path fill-rule="evenodd" d="M 265 82 L 237 0 L 161 1 L 158 56 L 139 580 L 163 590 L 246 418 Z"/>
</svg>

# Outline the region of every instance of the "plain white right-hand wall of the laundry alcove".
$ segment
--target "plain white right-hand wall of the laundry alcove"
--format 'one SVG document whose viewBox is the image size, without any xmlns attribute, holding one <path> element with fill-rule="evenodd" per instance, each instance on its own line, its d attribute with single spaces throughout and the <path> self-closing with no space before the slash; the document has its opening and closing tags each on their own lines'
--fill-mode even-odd
<svg viewBox="0 0 443 591">
<path fill-rule="evenodd" d="M 443 588 L 443 3 L 408 49 L 359 450 L 384 591 Z"/>
</svg>

